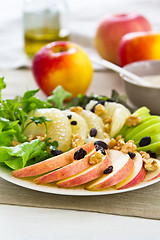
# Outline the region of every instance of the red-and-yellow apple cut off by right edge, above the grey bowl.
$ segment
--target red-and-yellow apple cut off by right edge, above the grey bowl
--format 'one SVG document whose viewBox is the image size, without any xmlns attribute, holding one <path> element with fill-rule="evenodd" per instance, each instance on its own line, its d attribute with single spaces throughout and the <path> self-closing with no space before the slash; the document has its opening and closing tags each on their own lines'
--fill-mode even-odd
<svg viewBox="0 0 160 240">
<path fill-rule="evenodd" d="M 160 59 L 159 46 L 160 33 L 128 33 L 122 37 L 119 44 L 119 65 L 123 67 L 136 61 Z"/>
</svg>

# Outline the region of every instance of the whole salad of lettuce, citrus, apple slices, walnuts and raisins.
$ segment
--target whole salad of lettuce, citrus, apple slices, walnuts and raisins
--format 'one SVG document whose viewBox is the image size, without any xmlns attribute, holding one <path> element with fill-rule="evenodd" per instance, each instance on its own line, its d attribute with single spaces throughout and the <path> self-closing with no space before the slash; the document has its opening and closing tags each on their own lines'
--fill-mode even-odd
<svg viewBox="0 0 160 240">
<path fill-rule="evenodd" d="M 3 100 L 5 87 L 0 78 L 0 168 L 14 178 L 116 192 L 159 179 L 160 116 L 145 106 L 116 91 L 71 99 L 61 86 L 46 101 L 39 90 Z"/>
</svg>

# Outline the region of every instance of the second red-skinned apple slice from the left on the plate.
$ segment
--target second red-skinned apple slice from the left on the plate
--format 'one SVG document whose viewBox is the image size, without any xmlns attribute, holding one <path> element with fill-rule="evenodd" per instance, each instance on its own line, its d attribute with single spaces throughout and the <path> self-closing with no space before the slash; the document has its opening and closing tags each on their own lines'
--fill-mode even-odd
<svg viewBox="0 0 160 240">
<path fill-rule="evenodd" d="M 95 152 L 96 150 L 94 149 L 83 159 L 75 160 L 73 163 L 70 163 L 62 168 L 55 170 L 54 172 L 50 172 L 42 177 L 35 179 L 34 182 L 37 184 L 45 184 L 71 177 L 91 166 L 89 159 Z"/>
</svg>

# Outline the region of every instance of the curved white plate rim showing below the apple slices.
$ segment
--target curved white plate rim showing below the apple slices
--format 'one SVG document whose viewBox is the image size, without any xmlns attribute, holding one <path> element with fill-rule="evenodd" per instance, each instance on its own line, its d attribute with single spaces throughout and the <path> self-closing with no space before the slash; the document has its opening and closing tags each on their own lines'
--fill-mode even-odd
<svg viewBox="0 0 160 240">
<path fill-rule="evenodd" d="M 74 187 L 72 189 L 64 189 L 64 188 L 58 188 L 55 184 L 36 185 L 32 180 L 18 179 L 13 177 L 11 174 L 11 170 L 2 166 L 0 166 L 0 177 L 7 180 L 8 182 L 11 182 L 13 184 L 19 185 L 24 188 L 32 189 L 35 191 L 60 194 L 60 195 L 72 195 L 72 196 L 96 196 L 96 195 L 108 195 L 108 194 L 128 192 L 128 191 L 133 191 L 133 190 L 147 187 L 149 185 L 152 185 L 160 181 L 160 177 L 158 177 L 150 182 L 141 182 L 136 186 L 127 188 L 127 189 L 116 190 L 114 187 L 110 187 L 101 191 L 88 191 L 83 189 L 83 186 Z"/>
</svg>

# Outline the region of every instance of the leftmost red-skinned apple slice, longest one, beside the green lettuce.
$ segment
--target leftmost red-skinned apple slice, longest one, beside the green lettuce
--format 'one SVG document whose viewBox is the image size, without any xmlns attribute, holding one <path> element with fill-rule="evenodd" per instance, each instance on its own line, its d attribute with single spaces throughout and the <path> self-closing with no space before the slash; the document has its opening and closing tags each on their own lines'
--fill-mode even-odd
<svg viewBox="0 0 160 240">
<path fill-rule="evenodd" d="M 31 176 L 36 176 L 40 175 L 42 173 L 47 173 L 49 171 L 52 171 L 54 169 L 63 167 L 74 160 L 74 153 L 79 150 L 80 148 L 83 148 L 84 150 L 89 153 L 94 149 L 94 144 L 93 143 L 88 143 L 79 147 L 76 147 L 74 149 L 71 149 L 68 152 L 65 152 L 61 155 L 58 155 L 56 157 L 51 157 L 49 159 L 46 159 L 42 162 L 33 164 L 28 167 L 24 167 L 18 170 L 15 170 L 12 172 L 14 177 L 17 178 L 23 178 L 23 177 L 31 177 Z"/>
</svg>

